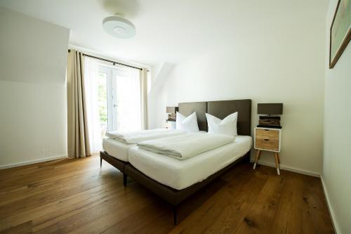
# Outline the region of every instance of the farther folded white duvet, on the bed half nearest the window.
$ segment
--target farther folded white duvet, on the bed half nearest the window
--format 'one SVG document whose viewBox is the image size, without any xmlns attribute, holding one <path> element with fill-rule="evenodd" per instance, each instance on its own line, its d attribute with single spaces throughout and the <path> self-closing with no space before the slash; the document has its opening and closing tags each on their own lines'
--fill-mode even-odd
<svg viewBox="0 0 351 234">
<path fill-rule="evenodd" d="M 176 129 L 152 129 L 152 130 L 139 130 L 139 131 L 110 131 L 106 133 L 108 138 L 112 138 L 116 141 L 120 141 L 126 144 L 136 144 L 140 141 L 147 141 L 157 139 L 161 137 L 176 136 L 179 134 L 185 134 L 183 130 Z"/>
</svg>

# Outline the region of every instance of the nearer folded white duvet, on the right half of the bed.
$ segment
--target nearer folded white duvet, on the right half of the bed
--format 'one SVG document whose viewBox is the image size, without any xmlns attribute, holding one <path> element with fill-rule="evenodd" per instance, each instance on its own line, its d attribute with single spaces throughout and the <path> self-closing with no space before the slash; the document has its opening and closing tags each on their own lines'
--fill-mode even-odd
<svg viewBox="0 0 351 234">
<path fill-rule="evenodd" d="M 234 136 L 222 134 L 191 133 L 143 141 L 138 143 L 138 146 L 151 152 L 158 152 L 162 155 L 175 157 L 178 160 L 185 160 L 201 152 L 232 143 L 234 140 Z"/>
</svg>

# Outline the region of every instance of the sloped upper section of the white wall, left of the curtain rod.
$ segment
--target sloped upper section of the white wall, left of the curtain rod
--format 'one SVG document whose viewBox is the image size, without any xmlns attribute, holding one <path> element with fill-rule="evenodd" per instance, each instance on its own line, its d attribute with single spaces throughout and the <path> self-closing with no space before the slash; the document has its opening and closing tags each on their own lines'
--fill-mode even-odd
<svg viewBox="0 0 351 234">
<path fill-rule="evenodd" d="M 64 84 L 69 30 L 0 7 L 0 81 Z"/>
</svg>

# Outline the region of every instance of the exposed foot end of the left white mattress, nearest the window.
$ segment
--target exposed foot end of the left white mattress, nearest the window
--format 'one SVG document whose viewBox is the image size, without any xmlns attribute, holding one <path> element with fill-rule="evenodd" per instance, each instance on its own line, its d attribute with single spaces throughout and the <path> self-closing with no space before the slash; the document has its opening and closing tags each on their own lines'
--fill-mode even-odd
<svg viewBox="0 0 351 234">
<path fill-rule="evenodd" d="M 133 146 L 135 146 L 135 144 L 126 144 L 112 138 L 105 138 L 102 140 L 102 148 L 107 154 L 124 162 L 128 162 L 128 150 Z"/>
</svg>

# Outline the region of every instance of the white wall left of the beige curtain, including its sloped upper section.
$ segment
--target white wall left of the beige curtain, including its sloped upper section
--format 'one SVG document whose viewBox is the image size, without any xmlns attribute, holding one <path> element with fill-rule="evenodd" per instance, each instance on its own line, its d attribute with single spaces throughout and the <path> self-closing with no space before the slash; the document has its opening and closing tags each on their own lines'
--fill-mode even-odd
<svg viewBox="0 0 351 234">
<path fill-rule="evenodd" d="M 67 155 L 69 30 L 0 8 L 0 168 Z"/>
</svg>

